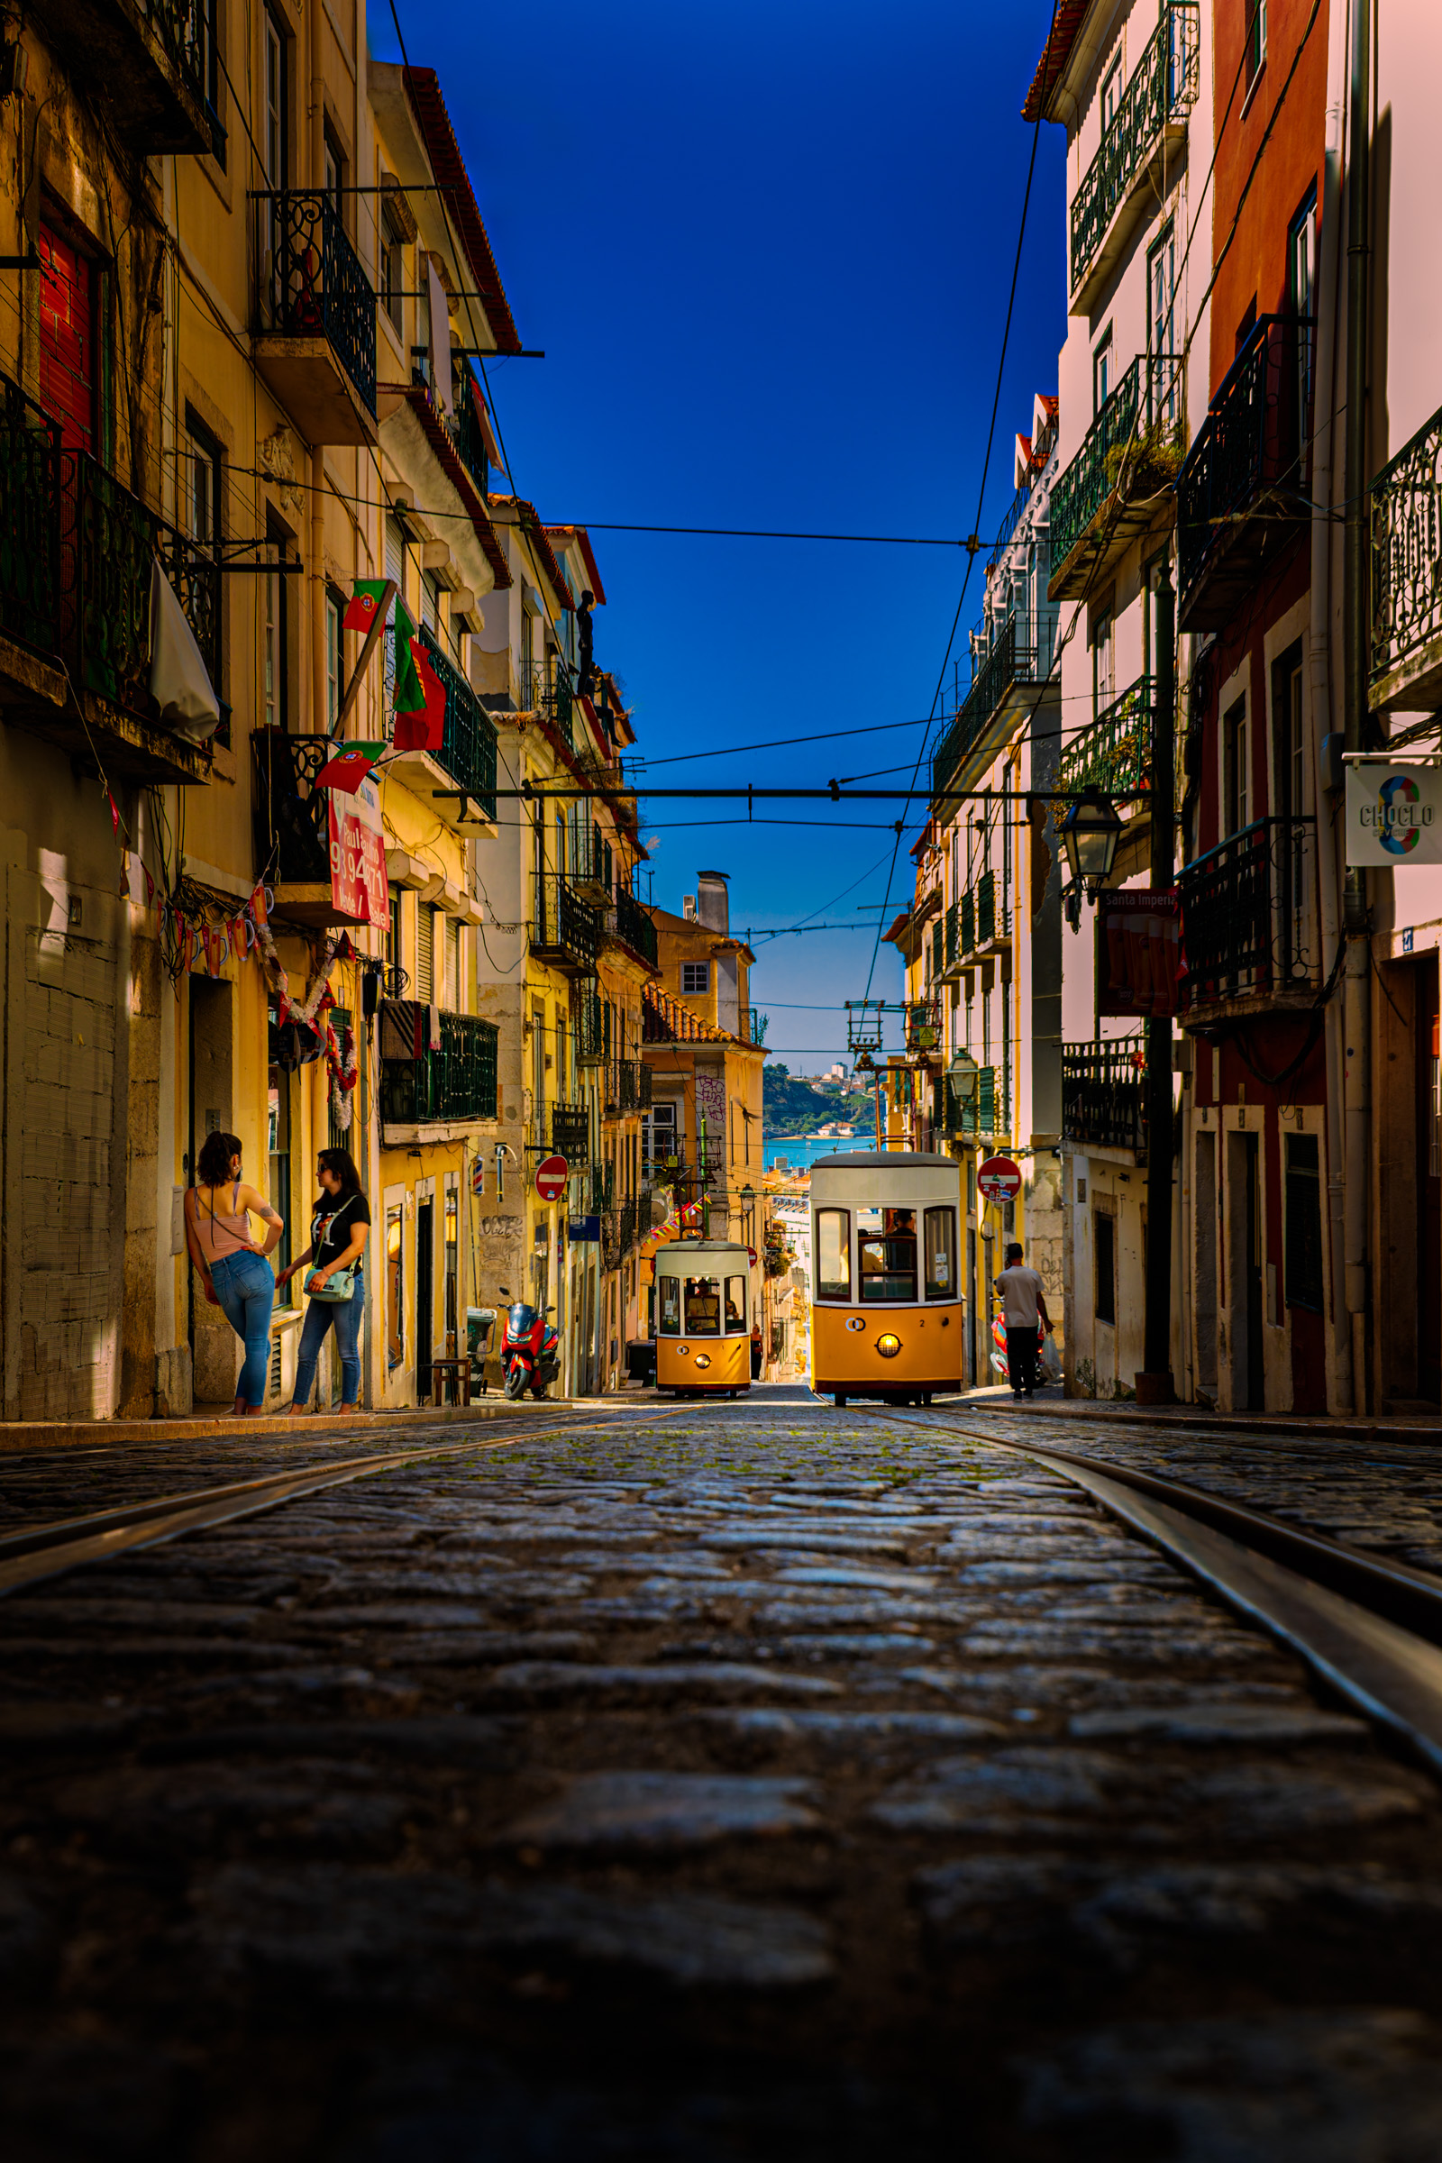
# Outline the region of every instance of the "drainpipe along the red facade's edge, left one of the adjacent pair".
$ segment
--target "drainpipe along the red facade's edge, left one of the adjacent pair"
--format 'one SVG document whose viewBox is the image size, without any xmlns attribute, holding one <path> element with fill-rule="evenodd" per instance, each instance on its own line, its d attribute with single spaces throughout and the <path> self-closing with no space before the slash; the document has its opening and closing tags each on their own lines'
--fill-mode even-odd
<svg viewBox="0 0 1442 2163">
<path fill-rule="evenodd" d="M 1321 180 L 1321 264 L 1317 292 L 1317 381 L 1312 387 L 1312 621 L 1308 636 L 1308 688 L 1312 709 L 1312 755 L 1317 759 L 1317 891 L 1321 915 L 1321 976 L 1330 982 L 1340 939 L 1336 824 L 1321 768 L 1321 746 L 1332 735 L 1332 495 L 1338 344 L 1340 262 L 1340 149 L 1343 149 L 1343 11 L 1332 15 L 1327 52 L 1327 145 Z M 1343 1006 L 1336 997 L 1323 1010 L 1323 1071 L 1327 1112 L 1327 1242 L 1332 1252 L 1332 1369 L 1336 1410 L 1353 1410 L 1351 1317 L 1347 1311 L 1347 1220 L 1343 1175 Z"/>
</svg>

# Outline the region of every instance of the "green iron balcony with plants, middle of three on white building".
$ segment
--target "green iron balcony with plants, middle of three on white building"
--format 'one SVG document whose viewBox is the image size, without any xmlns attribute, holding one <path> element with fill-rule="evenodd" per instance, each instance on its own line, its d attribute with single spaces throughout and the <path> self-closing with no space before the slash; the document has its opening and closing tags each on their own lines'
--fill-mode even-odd
<svg viewBox="0 0 1442 2163">
<path fill-rule="evenodd" d="M 1157 517 L 1180 465 L 1183 363 L 1137 355 L 1051 491 L 1051 584 L 1083 599 Z"/>
</svg>

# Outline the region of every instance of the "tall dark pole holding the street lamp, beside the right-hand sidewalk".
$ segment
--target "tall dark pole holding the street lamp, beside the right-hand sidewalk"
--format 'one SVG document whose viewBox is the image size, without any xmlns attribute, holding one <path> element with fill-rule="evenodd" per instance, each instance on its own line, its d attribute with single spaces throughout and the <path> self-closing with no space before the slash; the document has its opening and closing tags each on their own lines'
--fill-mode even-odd
<svg viewBox="0 0 1442 2163">
<path fill-rule="evenodd" d="M 1152 709 L 1152 893 L 1170 893 L 1176 846 L 1176 593 L 1157 573 L 1157 705 Z M 1146 1341 L 1137 1404 L 1172 1404 L 1172 1017 L 1146 1021 Z"/>
</svg>

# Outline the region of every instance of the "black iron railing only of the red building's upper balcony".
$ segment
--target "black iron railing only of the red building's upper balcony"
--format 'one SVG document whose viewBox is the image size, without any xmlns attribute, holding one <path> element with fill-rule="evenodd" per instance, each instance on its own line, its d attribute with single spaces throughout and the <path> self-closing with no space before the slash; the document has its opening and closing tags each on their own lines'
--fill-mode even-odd
<svg viewBox="0 0 1442 2163">
<path fill-rule="evenodd" d="M 1183 603 L 1209 562 L 1239 539 L 1258 495 L 1278 489 L 1295 497 L 1297 517 L 1308 515 L 1310 387 L 1312 318 L 1263 316 L 1221 379 L 1176 476 Z"/>
</svg>

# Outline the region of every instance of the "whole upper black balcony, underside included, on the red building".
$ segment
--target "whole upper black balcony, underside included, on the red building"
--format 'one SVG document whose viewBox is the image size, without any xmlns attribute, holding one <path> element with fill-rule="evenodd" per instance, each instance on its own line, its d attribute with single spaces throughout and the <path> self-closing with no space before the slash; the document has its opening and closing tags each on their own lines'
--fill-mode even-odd
<svg viewBox="0 0 1442 2163">
<path fill-rule="evenodd" d="M 1176 476 L 1178 627 L 1224 629 L 1310 519 L 1312 318 L 1263 316 Z"/>
</svg>

